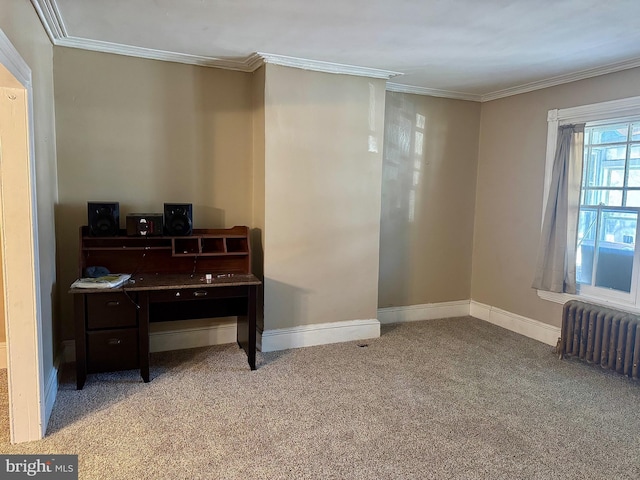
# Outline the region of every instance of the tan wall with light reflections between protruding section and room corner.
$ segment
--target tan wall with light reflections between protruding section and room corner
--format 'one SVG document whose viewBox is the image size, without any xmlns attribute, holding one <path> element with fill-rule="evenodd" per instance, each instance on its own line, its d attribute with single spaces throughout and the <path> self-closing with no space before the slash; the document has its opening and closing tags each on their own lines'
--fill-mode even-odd
<svg viewBox="0 0 640 480">
<path fill-rule="evenodd" d="M 480 104 L 387 92 L 380 307 L 466 300 Z"/>
</svg>

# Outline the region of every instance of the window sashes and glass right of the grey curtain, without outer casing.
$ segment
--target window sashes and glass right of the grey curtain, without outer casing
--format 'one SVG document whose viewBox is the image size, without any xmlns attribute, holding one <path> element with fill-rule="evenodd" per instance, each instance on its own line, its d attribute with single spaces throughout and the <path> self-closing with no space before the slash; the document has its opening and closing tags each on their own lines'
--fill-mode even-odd
<svg viewBox="0 0 640 480">
<path fill-rule="evenodd" d="M 635 298 L 640 212 L 640 120 L 587 124 L 576 280 L 580 293 Z"/>
</svg>

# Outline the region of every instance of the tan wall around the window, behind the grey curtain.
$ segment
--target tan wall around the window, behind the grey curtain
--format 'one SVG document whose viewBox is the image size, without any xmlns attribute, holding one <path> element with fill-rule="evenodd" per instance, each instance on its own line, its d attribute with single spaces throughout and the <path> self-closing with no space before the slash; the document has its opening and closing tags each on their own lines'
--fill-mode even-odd
<svg viewBox="0 0 640 480">
<path fill-rule="evenodd" d="M 482 105 L 472 298 L 560 325 L 531 288 L 542 218 L 547 111 L 640 95 L 640 69 Z"/>
</svg>

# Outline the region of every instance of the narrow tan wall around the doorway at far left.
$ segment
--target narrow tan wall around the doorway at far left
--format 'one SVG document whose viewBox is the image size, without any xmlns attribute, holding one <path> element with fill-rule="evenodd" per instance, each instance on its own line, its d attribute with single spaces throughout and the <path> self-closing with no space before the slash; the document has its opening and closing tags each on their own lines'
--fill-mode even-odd
<svg viewBox="0 0 640 480">
<path fill-rule="evenodd" d="M 32 72 L 44 378 L 53 369 L 56 311 L 54 205 L 57 201 L 52 46 L 29 2 L 3 0 L 0 29 Z M 4 323 L 3 327 L 4 329 Z M 4 331 L 0 341 L 5 341 Z"/>
</svg>

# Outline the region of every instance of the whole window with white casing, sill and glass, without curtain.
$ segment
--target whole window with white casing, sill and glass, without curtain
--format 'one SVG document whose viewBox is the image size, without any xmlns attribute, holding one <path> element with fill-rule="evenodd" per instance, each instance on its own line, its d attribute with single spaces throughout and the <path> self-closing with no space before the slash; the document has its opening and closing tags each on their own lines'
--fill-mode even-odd
<svg viewBox="0 0 640 480">
<path fill-rule="evenodd" d="M 544 202 L 558 127 L 572 123 L 586 123 L 576 244 L 578 294 L 538 295 L 558 303 L 579 297 L 640 311 L 640 97 L 549 111 Z"/>
</svg>

